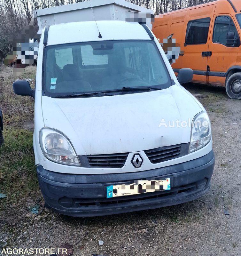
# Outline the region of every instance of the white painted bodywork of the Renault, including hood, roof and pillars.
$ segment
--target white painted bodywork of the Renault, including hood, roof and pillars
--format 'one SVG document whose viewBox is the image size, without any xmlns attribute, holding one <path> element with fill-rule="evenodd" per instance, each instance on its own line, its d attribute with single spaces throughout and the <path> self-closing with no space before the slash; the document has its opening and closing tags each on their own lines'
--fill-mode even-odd
<svg viewBox="0 0 241 256">
<path fill-rule="evenodd" d="M 98 21 L 103 36 L 98 38 L 94 22 L 74 22 L 50 27 L 48 45 L 100 40 L 151 40 L 137 23 Z M 65 31 L 65 33 L 63 33 Z M 75 31 L 75 33 L 74 33 Z M 76 32 L 77 31 L 77 32 Z M 88 33 L 87 33 L 88 31 Z M 36 164 L 62 173 L 121 173 L 139 172 L 183 163 L 208 154 L 212 140 L 203 148 L 186 156 L 152 164 L 144 150 L 190 142 L 190 127 L 159 127 L 161 120 L 188 122 L 205 109 L 177 81 L 158 40 L 154 39 L 174 85 L 167 89 L 113 95 L 108 97 L 54 99 L 42 96 L 43 36 L 40 40 L 36 74 L 34 151 Z M 126 164 L 115 168 L 83 168 L 57 164 L 46 159 L 39 144 L 43 127 L 64 133 L 77 155 L 130 153 Z M 133 152 L 144 162 L 140 168 L 131 164 Z"/>
</svg>

